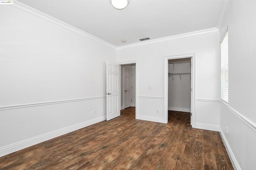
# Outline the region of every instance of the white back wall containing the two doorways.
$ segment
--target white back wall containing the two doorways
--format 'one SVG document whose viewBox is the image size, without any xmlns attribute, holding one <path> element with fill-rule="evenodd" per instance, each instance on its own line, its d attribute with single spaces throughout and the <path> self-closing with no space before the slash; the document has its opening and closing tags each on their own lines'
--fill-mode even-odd
<svg viewBox="0 0 256 170">
<path fill-rule="evenodd" d="M 196 127 L 218 130 L 220 113 L 219 31 L 209 29 L 182 36 L 119 47 L 118 62 L 137 61 L 138 119 L 164 122 L 164 57 L 195 54 Z M 152 90 L 148 89 L 152 86 Z M 208 107 L 212 109 L 207 109 Z M 159 109 L 159 113 L 157 113 Z"/>
</svg>

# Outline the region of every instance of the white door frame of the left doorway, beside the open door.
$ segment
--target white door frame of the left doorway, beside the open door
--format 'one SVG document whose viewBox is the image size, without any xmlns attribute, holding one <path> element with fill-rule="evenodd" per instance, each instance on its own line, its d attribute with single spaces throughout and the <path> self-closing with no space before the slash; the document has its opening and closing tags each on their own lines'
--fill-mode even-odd
<svg viewBox="0 0 256 170">
<path fill-rule="evenodd" d="M 138 119 L 138 61 L 124 61 L 124 62 L 117 62 L 117 64 L 120 65 L 120 72 L 121 72 L 121 65 L 124 64 L 135 64 L 135 119 Z M 119 80 L 119 87 L 121 87 L 121 78 Z M 134 90 L 134 89 L 133 89 Z M 120 96 L 121 96 L 121 90 L 120 90 Z M 119 99 L 119 105 L 121 106 L 121 98 Z"/>
</svg>

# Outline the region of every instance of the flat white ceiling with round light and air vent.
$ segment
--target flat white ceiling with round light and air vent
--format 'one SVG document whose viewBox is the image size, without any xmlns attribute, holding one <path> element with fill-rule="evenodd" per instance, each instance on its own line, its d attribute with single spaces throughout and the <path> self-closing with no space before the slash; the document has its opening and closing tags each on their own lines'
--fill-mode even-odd
<svg viewBox="0 0 256 170">
<path fill-rule="evenodd" d="M 116 10 L 110 0 L 19 0 L 117 47 L 217 27 L 223 1 L 130 0 Z"/>
</svg>

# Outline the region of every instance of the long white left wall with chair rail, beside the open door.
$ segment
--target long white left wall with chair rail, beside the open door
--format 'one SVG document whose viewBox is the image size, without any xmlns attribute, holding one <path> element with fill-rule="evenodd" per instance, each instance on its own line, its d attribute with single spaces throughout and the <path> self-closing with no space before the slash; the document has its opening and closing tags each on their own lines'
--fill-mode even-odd
<svg viewBox="0 0 256 170">
<path fill-rule="evenodd" d="M 105 120 L 116 49 L 18 2 L 0 8 L 0 156 Z"/>
</svg>

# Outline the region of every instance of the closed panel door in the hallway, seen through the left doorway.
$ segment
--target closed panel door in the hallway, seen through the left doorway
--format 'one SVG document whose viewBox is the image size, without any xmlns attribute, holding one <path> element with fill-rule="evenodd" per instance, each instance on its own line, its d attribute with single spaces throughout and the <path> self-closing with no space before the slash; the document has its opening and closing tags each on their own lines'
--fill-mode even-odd
<svg viewBox="0 0 256 170">
<path fill-rule="evenodd" d="M 124 108 L 132 106 L 132 70 L 124 68 Z"/>
</svg>

